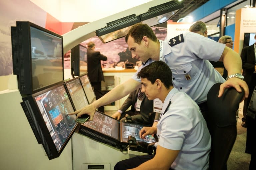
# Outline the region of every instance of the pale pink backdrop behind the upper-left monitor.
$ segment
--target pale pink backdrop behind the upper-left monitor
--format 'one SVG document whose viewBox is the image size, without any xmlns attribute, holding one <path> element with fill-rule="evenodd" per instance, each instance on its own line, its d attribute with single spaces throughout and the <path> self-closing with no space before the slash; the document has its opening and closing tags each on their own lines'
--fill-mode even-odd
<svg viewBox="0 0 256 170">
<path fill-rule="evenodd" d="M 41 8 L 39 8 L 29 0 L 1 1 L 0 76 L 7 76 L 13 73 L 11 26 L 16 26 L 16 21 L 30 21 L 45 28 L 46 15 L 47 13 L 45 11 L 43 11 Z"/>
</svg>

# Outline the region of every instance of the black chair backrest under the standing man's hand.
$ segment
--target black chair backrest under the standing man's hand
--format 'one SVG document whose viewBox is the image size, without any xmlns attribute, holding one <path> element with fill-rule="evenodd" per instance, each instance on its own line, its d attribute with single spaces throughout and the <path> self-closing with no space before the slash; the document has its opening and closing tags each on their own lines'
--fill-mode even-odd
<svg viewBox="0 0 256 170">
<path fill-rule="evenodd" d="M 221 83 L 211 87 L 207 94 L 206 122 L 212 138 L 209 170 L 225 170 L 229 154 L 236 140 L 236 114 L 244 90 L 226 88 L 218 97 Z"/>
</svg>

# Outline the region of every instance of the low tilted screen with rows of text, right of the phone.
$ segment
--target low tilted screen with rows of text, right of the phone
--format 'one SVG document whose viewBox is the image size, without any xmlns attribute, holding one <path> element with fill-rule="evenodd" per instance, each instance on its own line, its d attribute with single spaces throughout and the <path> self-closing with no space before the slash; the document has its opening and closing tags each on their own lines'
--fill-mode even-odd
<svg viewBox="0 0 256 170">
<path fill-rule="evenodd" d="M 119 121 L 101 112 L 96 111 L 93 120 L 83 125 L 119 140 Z"/>
</svg>

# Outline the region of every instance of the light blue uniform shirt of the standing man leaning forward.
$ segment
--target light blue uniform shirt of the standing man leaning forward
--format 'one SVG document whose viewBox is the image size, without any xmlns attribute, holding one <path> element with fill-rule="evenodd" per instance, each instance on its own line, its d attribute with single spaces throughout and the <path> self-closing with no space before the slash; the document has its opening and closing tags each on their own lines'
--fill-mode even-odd
<svg viewBox="0 0 256 170">
<path fill-rule="evenodd" d="M 225 44 L 218 43 L 197 33 L 183 34 L 184 42 L 171 47 L 168 41 L 163 42 L 163 62 L 172 71 L 173 86 L 187 93 L 196 103 L 206 101 L 210 88 L 215 83 L 225 80 L 208 61 L 219 61 Z M 145 66 L 152 63 L 149 59 Z M 132 79 L 140 82 L 137 73 Z"/>
</svg>

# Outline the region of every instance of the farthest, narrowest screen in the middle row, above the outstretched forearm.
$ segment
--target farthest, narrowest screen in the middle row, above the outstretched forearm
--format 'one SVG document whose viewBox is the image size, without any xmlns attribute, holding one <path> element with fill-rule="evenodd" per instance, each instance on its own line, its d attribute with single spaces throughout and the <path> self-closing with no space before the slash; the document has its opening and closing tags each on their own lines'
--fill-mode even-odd
<svg viewBox="0 0 256 170">
<path fill-rule="evenodd" d="M 83 76 L 80 76 L 80 81 L 81 81 L 82 86 L 84 88 L 84 92 L 85 92 L 85 95 L 87 97 L 88 102 L 92 103 L 92 101 L 95 99 L 96 96 L 95 96 L 94 91 L 92 89 L 92 85 L 90 83 L 88 75 L 85 74 Z"/>
</svg>

